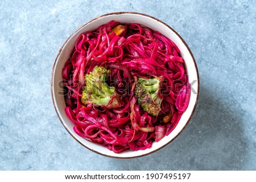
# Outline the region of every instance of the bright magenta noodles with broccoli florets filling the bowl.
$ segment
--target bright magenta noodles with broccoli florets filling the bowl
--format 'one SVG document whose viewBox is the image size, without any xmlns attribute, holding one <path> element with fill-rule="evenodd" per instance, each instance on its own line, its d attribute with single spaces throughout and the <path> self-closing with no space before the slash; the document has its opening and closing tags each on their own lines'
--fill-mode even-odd
<svg viewBox="0 0 256 182">
<path fill-rule="evenodd" d="M 174 130 L 190 99 L 180 50 L 140 24 L 82 33 L 62 71 L 73 130 L 114 153 L 145 150 Z"/>
</svg>

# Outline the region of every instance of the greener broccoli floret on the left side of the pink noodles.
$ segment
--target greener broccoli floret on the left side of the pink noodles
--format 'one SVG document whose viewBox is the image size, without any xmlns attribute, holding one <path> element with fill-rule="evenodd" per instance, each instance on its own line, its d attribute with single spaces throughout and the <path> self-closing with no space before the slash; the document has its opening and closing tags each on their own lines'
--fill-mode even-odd
<svg viewBox="0 0 256 182">
<path fill-rule="evenodd" d="M 96 106 L 104 105 L 106 108 L 121 106 L 119 96 L 114 87 L 108 86 L 106 77 L 110 71 L 105 67 L 94 67 L 93 71 L 85 75 L 85 87 L 82 92 L 82 100 L 85 104 Z"/>
</svg>

